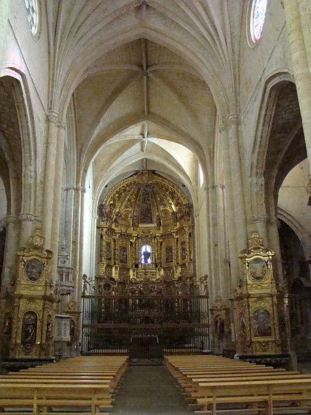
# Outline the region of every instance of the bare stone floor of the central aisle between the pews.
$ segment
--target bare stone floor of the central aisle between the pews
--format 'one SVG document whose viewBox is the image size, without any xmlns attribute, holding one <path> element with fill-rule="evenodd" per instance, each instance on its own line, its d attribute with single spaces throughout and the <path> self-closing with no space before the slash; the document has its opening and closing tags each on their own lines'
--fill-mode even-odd
<svg viewBox="0 0 311 415">
<path fill-rule="evenodd" d="M 162 366 L 129 366 L 111 415 L 189 415 L 173 378 Z"/>
</svg>

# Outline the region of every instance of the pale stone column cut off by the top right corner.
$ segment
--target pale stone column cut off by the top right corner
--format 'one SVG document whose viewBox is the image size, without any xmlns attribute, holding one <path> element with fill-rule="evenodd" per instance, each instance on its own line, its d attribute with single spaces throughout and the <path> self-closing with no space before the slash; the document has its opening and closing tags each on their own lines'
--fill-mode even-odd
<svg viewBox="0 0 311 415">
<path fill-rule="evenodd" d="M 311 30 L 310 0 L 283 0 L 294 78 L 311 163 Z M 311 165 L 311 164 L 310 164 Z"/>
</svg>

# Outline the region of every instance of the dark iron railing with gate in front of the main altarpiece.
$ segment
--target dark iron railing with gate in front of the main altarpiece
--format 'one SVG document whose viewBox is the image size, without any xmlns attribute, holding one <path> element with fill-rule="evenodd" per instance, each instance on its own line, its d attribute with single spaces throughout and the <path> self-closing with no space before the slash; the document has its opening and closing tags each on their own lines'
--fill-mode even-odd
<svg viewBox="0 0 311 415">
<path fill-rule="evenodd" d="M 209 349 L 207 295 L 82 295 L 82 353 L 153 359 Z"/>
</svg>

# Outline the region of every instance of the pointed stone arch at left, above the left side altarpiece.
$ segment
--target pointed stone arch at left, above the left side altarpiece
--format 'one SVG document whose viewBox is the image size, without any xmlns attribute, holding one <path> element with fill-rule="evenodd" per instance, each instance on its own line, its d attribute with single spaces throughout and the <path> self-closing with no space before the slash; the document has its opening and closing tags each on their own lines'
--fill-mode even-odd
<svg viewBox="0 0 311 415">
<path fill-rule="evenodd" d="M 7 91 L 5 100 L 10 107 L 2 113 L 3 129 L 0 131 L 3 138 L 1 142 L 5 147 L 2 148 L 4 159 L 1 167 L 6 168 L 8 174 L 5 176 L 8 203 L 10 203 L 8 214 L 34 214 L 37 162 L 35 140 L 32 139 L 33 116 L 28 100 L 28 84 L 23 75 L 12 68 L 1 71 L 0 83 L 3 93 Z M 14 125 L 13 120 L 15 120 Z M 14 140 L 9 140 L 11 135 Z"/>
</svg>

